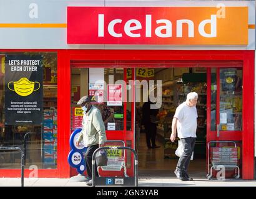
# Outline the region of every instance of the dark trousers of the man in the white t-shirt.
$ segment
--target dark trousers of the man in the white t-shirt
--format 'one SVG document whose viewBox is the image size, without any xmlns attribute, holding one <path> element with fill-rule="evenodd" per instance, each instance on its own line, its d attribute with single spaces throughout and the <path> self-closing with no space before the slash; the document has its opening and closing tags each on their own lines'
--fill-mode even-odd
<svg viewBox="0 0 256 199">
<path fill-rule="evenodd" d="M 180 141 L 184 146 L 184 152 L 180 156 L 176 170 L 178 172 L 187 173 L 187 169 L 189 168 L 190 158 L 195 148 L 195 137 L 180 138 Z"/>
</svg>

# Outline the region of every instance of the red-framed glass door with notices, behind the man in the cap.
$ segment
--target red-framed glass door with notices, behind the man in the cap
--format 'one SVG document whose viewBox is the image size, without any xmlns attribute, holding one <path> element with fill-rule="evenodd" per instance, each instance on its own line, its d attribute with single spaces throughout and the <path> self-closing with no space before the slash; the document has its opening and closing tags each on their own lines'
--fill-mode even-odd
<svg viewBox="0 0 256 199">
<path fill-rule="evenodd" d="M 116 142 L 121 141 L 124 146 L 134 149 L 134 85 L 129 80 L 134 79 L 134 70 L 130 68 L 95 67 L 83 62 L 71 60 L 71 130 L 81 126 L 82 114 L 76 116 L 77 101 L 87 95 L 91 103 L 99 108 L 105 125 L 107 142 L 106 146 L 120 146 Z M 133 81 L 131 81 L 133 82 Z M 109 159 L 117 160 L 125 158 L 124 168 L 109 165 L 105 170 L 99 170 L 102 176 L 134 175 L 134 157 L 130 151 L 109 150 Z M 120 161 L 119 161 L 120 160 Z M 121 165 L 122 166 L 122 165 Z M 117 169 L 116 169 L 117 168 Z"/>
</svg>

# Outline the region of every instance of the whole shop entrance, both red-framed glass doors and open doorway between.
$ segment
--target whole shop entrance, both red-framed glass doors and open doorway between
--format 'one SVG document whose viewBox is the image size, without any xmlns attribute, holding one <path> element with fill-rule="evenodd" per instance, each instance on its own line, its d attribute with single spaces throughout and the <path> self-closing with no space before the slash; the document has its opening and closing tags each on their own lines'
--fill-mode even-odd
<svg viewBox="0 0 256 199">
<path fill-rule="evenodd" d="M 199 98 L 197 139 L 189 174 L 194 178 L 205 178 L 209 165 L 207 143 L 210 141 L 235 141 L 239 164 L 242 164 L 241 65 L 235 68 L 225 68 L 225 65 L 214 68 L 210 64 L 175 63 L 165 64 L 165 68 L 161 65 L 153 68 L 152 64 L 145 63 L 141 68 L 139 64 L 136 68 L 129 68 L 130 65 L 127 68 L 123 65 L 116 68 L 87 68 L 87 65 L 81 67 L 71 63 L 72 110 L 76 108 L 76 101 L 82 95 L 89 95 L 92 100 L 101 96 L 93 92 L 98 80 L 106 82 L 102 88 L 107 90 L 102 96 L 107 96 L 107 99 L 112 93 L 109 86 L 122 88 L 118 96 L 122 96 L 120 100 L 124 100 L 114 101 L 115 104 L 107 100 L 105 104 L 110 109 L 109 113 L 112 113 L 111 121 L 106 122 L 107 139 L 124 141 L 126 146 L 136 150 L 140 177 L 175 177 L 173 171 L 178 161 L 175 150 L 179 138 L 175 142 L 169 139 L 172 119 L 175 109 L 192 91 L 198 93 Z M 191 67 L 186 67 L 187 65 Z M 153 103 L 147 103 L 148 99 Z M 150 109 L 151 105 L 155 108 Z M 74 115 L 71 118 L 74 129 Z M 210 147 L 222 146 L 215 144 Z M 133 156 L 124 156 L 127 175 L 133 175 Z M 241 165 L 239 167 L 242 168 Z M 113 175 L 116 174 L 114 171 Z"/>
</svg>

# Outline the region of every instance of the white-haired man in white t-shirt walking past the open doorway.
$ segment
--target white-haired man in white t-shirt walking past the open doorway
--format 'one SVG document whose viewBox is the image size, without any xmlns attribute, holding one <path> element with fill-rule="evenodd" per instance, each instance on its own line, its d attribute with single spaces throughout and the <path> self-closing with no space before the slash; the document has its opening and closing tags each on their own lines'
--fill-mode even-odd
<svg viewBox="0 0 256 199">
<path fill-rule="evenodd" d="M 190 157 L 195 147 L 195 137 L 197 131 L 197 105 L 198 95 L 195 92 L 187 95 L 187 100 L 180 104 L 175 111 L 174 119 L 172 119 L 172 134 L 170 141 L 174 142 L 176 137 L 176 129 L 178 137 L 184 147 L 184 152 L 180 156 L 174 174 L 182 181 L 193 180 L 187 174 Z"/>
</svg>

